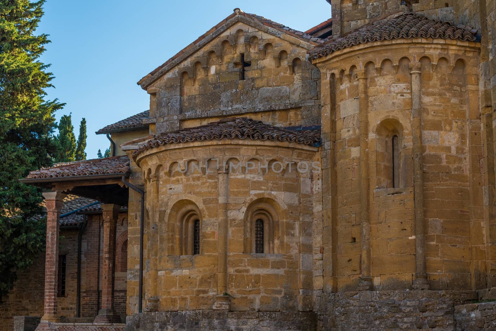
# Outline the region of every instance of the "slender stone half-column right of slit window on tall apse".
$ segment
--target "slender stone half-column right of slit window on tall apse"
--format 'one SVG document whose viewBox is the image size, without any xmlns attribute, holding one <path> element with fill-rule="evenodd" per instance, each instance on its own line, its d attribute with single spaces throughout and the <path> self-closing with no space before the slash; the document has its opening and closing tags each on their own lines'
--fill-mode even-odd
<svg viewBox="0 0 496 331">
<path fill-rule="evenodd" d="M 415 203 L 415 278 L 414 289 L 428 289 L 426 236 L 424 231 L 424 170 L 422 169 L 422 101 L 420 62 L 410 63 L 412 74 L 413 195 Z"/>
</svg>

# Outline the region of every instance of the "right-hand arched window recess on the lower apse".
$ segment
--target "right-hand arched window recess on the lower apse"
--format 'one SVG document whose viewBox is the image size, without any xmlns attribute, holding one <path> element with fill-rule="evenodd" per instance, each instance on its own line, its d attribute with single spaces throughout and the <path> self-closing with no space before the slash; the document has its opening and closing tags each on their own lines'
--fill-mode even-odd
<svg viewBox="0 0 496 331">
<path fill-rule="evenodd" d="M 284 253 L 284 220 L 281 206 L 271 198 L 252 201 L 244 219 L 244 252 Z"/>
</svg>

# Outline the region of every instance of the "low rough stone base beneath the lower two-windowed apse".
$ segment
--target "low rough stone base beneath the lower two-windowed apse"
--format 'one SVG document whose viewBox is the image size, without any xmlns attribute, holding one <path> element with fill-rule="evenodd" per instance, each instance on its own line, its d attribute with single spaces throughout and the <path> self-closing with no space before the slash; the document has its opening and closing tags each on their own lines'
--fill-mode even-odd
<svg viewBox="0 0 496 331">
<path fill-rule="evenodd" d="M 317 328 L 316 313 L 179 311 L 128 316 L 124 331 L 236 330 L 312 331 Z"/>
</svg>

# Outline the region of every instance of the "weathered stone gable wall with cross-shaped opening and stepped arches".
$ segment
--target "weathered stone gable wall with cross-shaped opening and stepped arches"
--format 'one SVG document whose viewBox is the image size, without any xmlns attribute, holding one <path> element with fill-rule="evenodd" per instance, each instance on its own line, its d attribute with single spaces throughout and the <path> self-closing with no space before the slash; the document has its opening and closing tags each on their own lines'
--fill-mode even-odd
<svg viewBox="0 0 496 331">
<path fill-rule="evenodd" d="M 279 110 L 298 110 L 281 118 L 290 126 L 318 124 L 320 74 L 301 44 L 311 47 L 242 22 L 229 27 L 147 88 L 156 132 L 188 119 Z"/>
</svg>

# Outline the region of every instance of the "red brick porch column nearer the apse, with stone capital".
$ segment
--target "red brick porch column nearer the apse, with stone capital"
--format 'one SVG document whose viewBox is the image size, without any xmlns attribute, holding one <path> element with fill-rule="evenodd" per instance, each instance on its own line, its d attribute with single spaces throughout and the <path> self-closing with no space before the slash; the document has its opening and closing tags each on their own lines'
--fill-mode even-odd
<svg viewBox="0 0 496 331">
<path fill-rule="evenodd" d="M 119 323 L 121 317 L 114 310 L 114 271 L 116 253 L 116 223 L 121 206 L 102 204 L 103 209 L 103 279 L 102 308 L 94 323 Z"/>
</svg>

